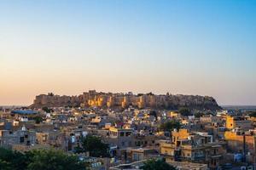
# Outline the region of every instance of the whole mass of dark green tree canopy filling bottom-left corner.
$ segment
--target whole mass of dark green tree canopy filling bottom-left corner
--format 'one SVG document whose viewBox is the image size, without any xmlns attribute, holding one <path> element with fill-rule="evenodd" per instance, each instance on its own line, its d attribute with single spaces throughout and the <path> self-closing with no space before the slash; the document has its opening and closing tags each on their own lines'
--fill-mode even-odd
<svg viewBox="0 0 256 170">
<path fill-rule="evenodd" d="M 61 150 L 31 150 L 25 153 L 0 148 L 0 169 L 72 170 L 85 169 L 84 161 Z"/>
</svg>

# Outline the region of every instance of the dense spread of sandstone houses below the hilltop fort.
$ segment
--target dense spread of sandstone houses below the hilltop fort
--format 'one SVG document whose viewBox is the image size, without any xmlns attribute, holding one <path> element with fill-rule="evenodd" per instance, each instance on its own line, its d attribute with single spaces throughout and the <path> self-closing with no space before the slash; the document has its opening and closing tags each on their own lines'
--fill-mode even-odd
<svg viewBox="0 0 256 170">
<path fill-rule="evenodd" d="M 108 144 L 110 157 L 79 156 L 91 169 L 139 169 L 143 161 L 164 158 L 178 169 L 253 169 L 256 159 L 256 120 L 245 113 L 135 109 L 50 108 L 50 111 L 0 111 L 0 147 L 26 151 L 64 150 L 73 154 L 82 139 L 95 135 Z M 195 114 L 194 114 L 195 115 Z M 163 131 L 160 125 L 179 127 Z"/>
</svg>

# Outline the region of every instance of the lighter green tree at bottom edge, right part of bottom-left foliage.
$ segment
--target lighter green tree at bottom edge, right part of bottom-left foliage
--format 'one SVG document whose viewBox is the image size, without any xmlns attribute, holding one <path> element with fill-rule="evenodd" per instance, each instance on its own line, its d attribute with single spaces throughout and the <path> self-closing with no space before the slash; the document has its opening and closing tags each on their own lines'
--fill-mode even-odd
<svg viewBox="0 0 256 170">
<path fill-rule="evenodd" d="M 82 170 L 84 161 L 69 156 L 61 150 L 32 150 L 26 152 L 29 164 L 27 170 Z"/>
</svg>

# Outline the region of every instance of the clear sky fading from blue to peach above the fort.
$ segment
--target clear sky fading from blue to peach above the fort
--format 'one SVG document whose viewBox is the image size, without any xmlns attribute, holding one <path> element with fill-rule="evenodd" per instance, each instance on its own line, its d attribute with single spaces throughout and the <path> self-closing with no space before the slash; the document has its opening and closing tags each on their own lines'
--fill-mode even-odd
<svg viewBox="0 0 256 170">
<path fill-rule="evenodd" d="M 0 105 L 89 89 L 256 105 L 255 64 L 253 0 L 0 0 Z"/>
</svg>

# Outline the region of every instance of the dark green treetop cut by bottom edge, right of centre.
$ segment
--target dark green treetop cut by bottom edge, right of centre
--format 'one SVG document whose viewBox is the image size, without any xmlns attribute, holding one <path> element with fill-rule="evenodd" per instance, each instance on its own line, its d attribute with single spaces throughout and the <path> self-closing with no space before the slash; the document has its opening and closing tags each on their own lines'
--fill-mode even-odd
<svg viewBox="0 0 256 170">
<path fill-rule="evenodd" d="M 175 170 L 170 164 L 166 163 L 164 159 L 148 160 L 144 162 L 143 170 Z"/>
</svg>

